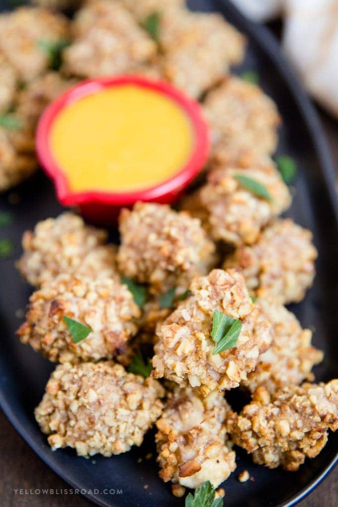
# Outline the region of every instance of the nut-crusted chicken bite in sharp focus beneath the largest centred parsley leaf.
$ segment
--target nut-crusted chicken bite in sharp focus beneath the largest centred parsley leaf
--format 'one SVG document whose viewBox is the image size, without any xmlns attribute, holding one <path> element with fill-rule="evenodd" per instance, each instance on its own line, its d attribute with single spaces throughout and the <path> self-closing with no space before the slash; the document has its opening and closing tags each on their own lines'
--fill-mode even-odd
<svg viewBox="0 0 338 507">
<path fill-rule="evenodd" d="M 204 395 L 238 387 L 271 343 L 271 325 L 252 303 L 241 273 L 215 269 L 194 278 L 191 294 L 157 328 L 153 376 L 180 386 L 198 387 Z M 236 346 L 213 354 L 211 338 L 215 310 L 239 319 Z"/>
</svg>

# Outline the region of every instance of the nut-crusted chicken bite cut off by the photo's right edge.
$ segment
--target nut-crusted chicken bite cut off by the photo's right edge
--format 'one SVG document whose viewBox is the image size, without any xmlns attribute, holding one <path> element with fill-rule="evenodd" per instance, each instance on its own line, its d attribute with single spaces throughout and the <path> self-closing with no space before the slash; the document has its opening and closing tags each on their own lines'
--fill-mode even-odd
<svg viewBox="0 0 338 507">
<path fill-rule="evenodd" d="M 235 444 L 252 453 L 255 463 L 291 472 L 320 453 L 328 428 L 338 428 L 338 379 L 284 387 L 271 397 L 258 387 L 252 402 L 240 415 L 229 412 L 227 422 Z"/>
</svg>

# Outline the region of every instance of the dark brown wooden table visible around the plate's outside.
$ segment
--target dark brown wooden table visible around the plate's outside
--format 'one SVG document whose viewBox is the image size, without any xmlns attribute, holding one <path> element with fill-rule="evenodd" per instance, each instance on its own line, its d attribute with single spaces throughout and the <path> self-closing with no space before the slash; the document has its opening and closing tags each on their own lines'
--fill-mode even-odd
<svg viewBox="0 0 338 507">
<path fill-rule="evenodd" d="M 320 111 L 320 116 L 331 146 L 336 169 L 338 168 L 338 121 Z M 336 172 L 338 175 L 338 171 Z M 67 507 L 75 503 L 73 496 L 67 495 L 18 495 L 15 489 L 54 489 L 62 490 L 67 485 L 57 477 L 27 444 L 0 411 L 0 484 L 3 507 L 33 505 L 34 507 Z M 290 476 L 291 480 L 291 476 Z M 226 503 L 226 502 L 225 502 Z M 82 496 L 76 497 L 78 507 L 90 505 Z M 302 507 L 336 507 L 338 505 L 338 467 L 303 502 Z M 262 505 L 262 507 L 265 507 Z"/>
</svg>

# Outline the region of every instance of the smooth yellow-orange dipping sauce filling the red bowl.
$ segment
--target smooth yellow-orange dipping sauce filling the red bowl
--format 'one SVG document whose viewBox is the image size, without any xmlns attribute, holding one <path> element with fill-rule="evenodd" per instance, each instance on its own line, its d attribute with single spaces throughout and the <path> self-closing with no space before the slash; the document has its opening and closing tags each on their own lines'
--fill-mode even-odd
<svg viewBox="0 0 338 507">
<path fill-rule="evenodd" d="M 169 97 L 137 85 L 105 88 L 67 106 L 51 128 L 51 149 L 72 191 L 153 187 L 187 162 L 189 118 Z"/>
</svg>

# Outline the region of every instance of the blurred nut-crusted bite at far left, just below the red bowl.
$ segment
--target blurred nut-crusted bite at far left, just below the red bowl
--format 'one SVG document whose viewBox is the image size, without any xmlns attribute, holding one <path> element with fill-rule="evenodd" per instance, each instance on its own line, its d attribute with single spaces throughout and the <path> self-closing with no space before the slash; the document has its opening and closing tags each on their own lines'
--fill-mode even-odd
<svg viewBox="0 0 338 507">
<path fill-rule="evenodd" d="M 95 278 L 115 272 L 116 249 L 101 246 L 107 238 L 102 229 L 85 225 L 81 216 L 70 212 L 36 224 L 22 237 L 23 256 L 17 263 L 22 276 L 39 286 L 61 273 Z"/>
</svg>

